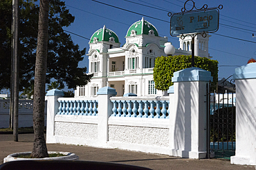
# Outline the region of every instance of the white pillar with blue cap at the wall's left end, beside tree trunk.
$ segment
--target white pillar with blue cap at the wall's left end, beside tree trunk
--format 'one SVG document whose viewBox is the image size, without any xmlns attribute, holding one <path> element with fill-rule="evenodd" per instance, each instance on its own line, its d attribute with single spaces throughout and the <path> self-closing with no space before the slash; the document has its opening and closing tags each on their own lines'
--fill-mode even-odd
<svg viewBox="0 0 256 170">
<path fill-rule="evenodd" d="M 46 125 L 46 143 L 55 142 L 55 115 L 59 111 L 60 103 L 58 98 L 63 97 L 64 92 L 60 89 L 51 89 L 47 92 L 47 125 Z"/>
</svg>

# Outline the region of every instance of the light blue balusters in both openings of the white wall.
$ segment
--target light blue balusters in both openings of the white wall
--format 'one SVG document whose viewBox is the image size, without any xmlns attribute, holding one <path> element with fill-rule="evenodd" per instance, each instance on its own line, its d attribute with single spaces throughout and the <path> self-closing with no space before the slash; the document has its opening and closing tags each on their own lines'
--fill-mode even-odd
<svg viewBox="0 0 256 170">
<path fill-rule="evenodd" d="M 59 100 L 59 103 L 57 114 L 98 116 L 98 100 Z M 169 100 L 112 100 L 112 103 L 111 116 L 169 118 L 170 114 Z"/>
</svg>

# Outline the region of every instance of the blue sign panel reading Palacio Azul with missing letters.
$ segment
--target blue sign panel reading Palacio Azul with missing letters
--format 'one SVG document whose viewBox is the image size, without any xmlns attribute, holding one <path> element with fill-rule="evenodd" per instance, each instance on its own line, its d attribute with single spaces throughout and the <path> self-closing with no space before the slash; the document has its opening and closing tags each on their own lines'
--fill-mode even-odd
<svg viewBox="0 0 256 170">
<path fill-rule="evenodd" d="M 174 14 L 170 23 L 172 36 L 194 32 L 216 32 L 219 29 L 219 10 Z"/>
</svg>

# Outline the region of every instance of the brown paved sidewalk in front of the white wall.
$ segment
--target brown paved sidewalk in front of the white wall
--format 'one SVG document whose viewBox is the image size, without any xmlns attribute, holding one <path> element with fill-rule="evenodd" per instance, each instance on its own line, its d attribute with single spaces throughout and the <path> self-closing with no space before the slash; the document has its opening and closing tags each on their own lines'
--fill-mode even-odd
<svg viewBox="0 0 256 170">
<path fill-rule="evenodd" d="M 13 141 L 12 134 L 0 134 L 0 164 L 3 164 L 3 158 L 10 153 L 31 151 L 32 147 L 33 134 L 19 134 L 19 142 Z M 80 160 L 132 164 L 150 169 L 255 169 L 254 166 L 230 164 L 229 160 L 193 160 L 136 151 L 102 149 L 77 145 L 48 144 L 47 148 L 48 151 L 68 151 L 75 153 L 79 156 Z"/>
</svg>

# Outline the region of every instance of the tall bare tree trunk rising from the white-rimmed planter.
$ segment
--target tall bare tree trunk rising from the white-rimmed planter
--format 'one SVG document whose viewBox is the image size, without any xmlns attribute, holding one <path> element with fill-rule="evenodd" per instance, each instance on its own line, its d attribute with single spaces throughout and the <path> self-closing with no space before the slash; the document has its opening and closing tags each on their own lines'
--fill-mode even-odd
<svg viewBox="0 0 256 170">
<path fill-rule="evenodd" d="M 31 156 L 33 158 L 48 157 L 46 140 L 44 138 L 44 105 L 48 45 L 48 10 L 49 0 L 40 0 L 33 103 L 34 145 L 33 151 L 31 153 Z"/>
</svg>

